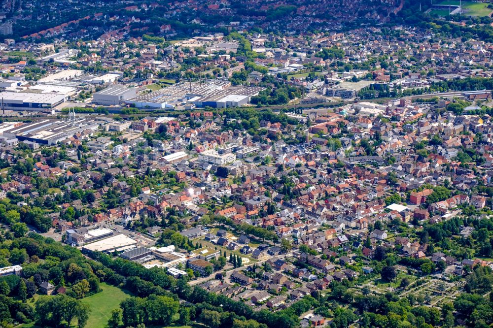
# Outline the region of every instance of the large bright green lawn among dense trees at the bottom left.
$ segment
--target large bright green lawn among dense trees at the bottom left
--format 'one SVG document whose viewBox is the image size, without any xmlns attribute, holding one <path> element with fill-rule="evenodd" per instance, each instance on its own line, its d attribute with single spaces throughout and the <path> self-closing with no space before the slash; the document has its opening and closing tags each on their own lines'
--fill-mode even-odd
<svg viewBox="0 0 493 328">
<path fill-rule="evenodd" d="M 130 296 L 130 293 L 106 283 L 101 283 L 100 287 L 102 292 L 82 299 L 91 308 L 86 328 L 105 328 L 111 310 L 117 309 L 120 302 Z"/>
</svg>

